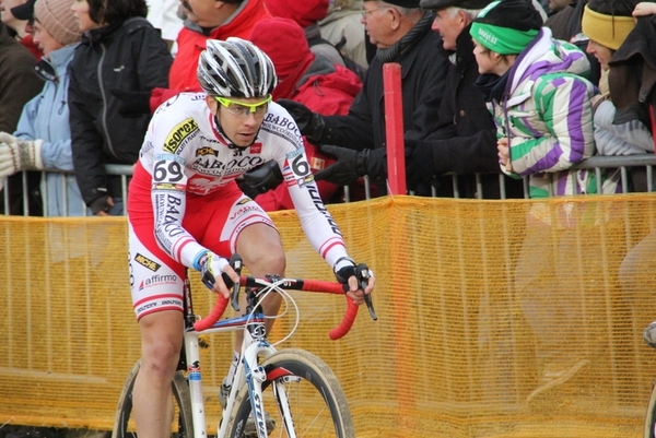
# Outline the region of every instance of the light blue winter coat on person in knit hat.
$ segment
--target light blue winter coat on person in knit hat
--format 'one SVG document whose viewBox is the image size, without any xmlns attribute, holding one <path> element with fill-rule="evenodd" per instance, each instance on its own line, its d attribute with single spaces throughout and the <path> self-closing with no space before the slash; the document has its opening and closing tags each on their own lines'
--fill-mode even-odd
<svg viewBox="0 0 656 438">
<path fill-rule="evenodd" d="M 78 44 L 49 54 L 42 62 L 49 64 L 55 78 L 47 80 L 42 92 L 23 107 L 14 135 L 25 140 L 43 140 L 42 161 L 46 169 L 73 170 L 71 130 L 69 125 L 67 67 Z M 42 180 L 48 216 L 83 216 L 85 208 L 72 174 L 47 173 Z M 70 205 L 70 209 L 67 209 Z"/>
</svg>

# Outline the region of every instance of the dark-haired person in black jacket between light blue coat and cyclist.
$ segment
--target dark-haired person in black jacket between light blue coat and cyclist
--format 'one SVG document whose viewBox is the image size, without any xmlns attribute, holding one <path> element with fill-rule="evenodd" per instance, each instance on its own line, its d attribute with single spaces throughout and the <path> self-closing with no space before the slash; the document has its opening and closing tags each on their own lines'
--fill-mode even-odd
<svg viewBox="0 0 656 438">
<path fill-rule="evenodd" d="M 145 0 L 75 1 L 72 9 L 84 33 L 69 66 L 75 178 L 93 214 L 122 214 L 120 177 L 104 165 L 137 162 L 150 115 L 132 114 L 121 98 L 167 86 L 172 56 L 145 20 Z"/>
</svg>

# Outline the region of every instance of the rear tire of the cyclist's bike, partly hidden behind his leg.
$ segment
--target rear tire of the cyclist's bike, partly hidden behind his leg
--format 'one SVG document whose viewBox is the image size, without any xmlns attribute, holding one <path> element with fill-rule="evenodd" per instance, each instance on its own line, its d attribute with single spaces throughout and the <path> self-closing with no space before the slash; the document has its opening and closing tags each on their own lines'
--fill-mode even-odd
<svg viewBox="0 0 656 438">
<path fill-rule="evenodd" d="M 114 418 L 114 428 L 112 438 L 136 438 L 134 423 L 131 419 L 132 414 L 132 389 L 134 379 L 141 368 L 141 360 L 137 362 L 124 384 L 116 407 L 116 417 Z M 173 383 L 174 395 L 174 422 L 172 424 L 172 437 L 194 438 L 194 421 L 191 418 L 191 398 L 189 394 L 189 383 L 181 371 L 174 376 Z"/>
</svg>

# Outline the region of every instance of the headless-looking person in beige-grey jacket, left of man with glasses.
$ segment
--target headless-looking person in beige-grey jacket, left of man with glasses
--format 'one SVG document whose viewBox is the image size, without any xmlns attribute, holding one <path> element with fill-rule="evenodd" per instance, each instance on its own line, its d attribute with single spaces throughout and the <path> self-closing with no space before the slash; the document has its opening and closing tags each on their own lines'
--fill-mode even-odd
<svg viewBox="0 0 656 438">
<path fill-rule="evenodd" d="M 361 22 L 362 0 L 330 0 L 328 14 L 319 20 L 321 36 L 348 59 L 368 67 L 365 32 Z"/>
</svg>

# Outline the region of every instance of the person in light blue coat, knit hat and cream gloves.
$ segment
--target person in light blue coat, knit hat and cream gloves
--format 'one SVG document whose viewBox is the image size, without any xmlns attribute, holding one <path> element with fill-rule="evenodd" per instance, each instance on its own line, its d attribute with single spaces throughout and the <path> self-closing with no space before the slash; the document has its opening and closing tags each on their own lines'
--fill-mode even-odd
<svg viewBox="0 0 656 438">
<path fill-rule="evenodd" d="M 46 83 L 24 106 L 13 135 L 0 132 L 2 177 L 24 169 L 73 170 L 66 71 L 80 40 L 78 22 L 71 11 L 73 1 L 38 0 L 36 3 L 34 42 L 44 52 L 36 72 Z M 85 214 L 74 177 L 48 173 L 45 184 L 48 216 Z"/>
</svg>

